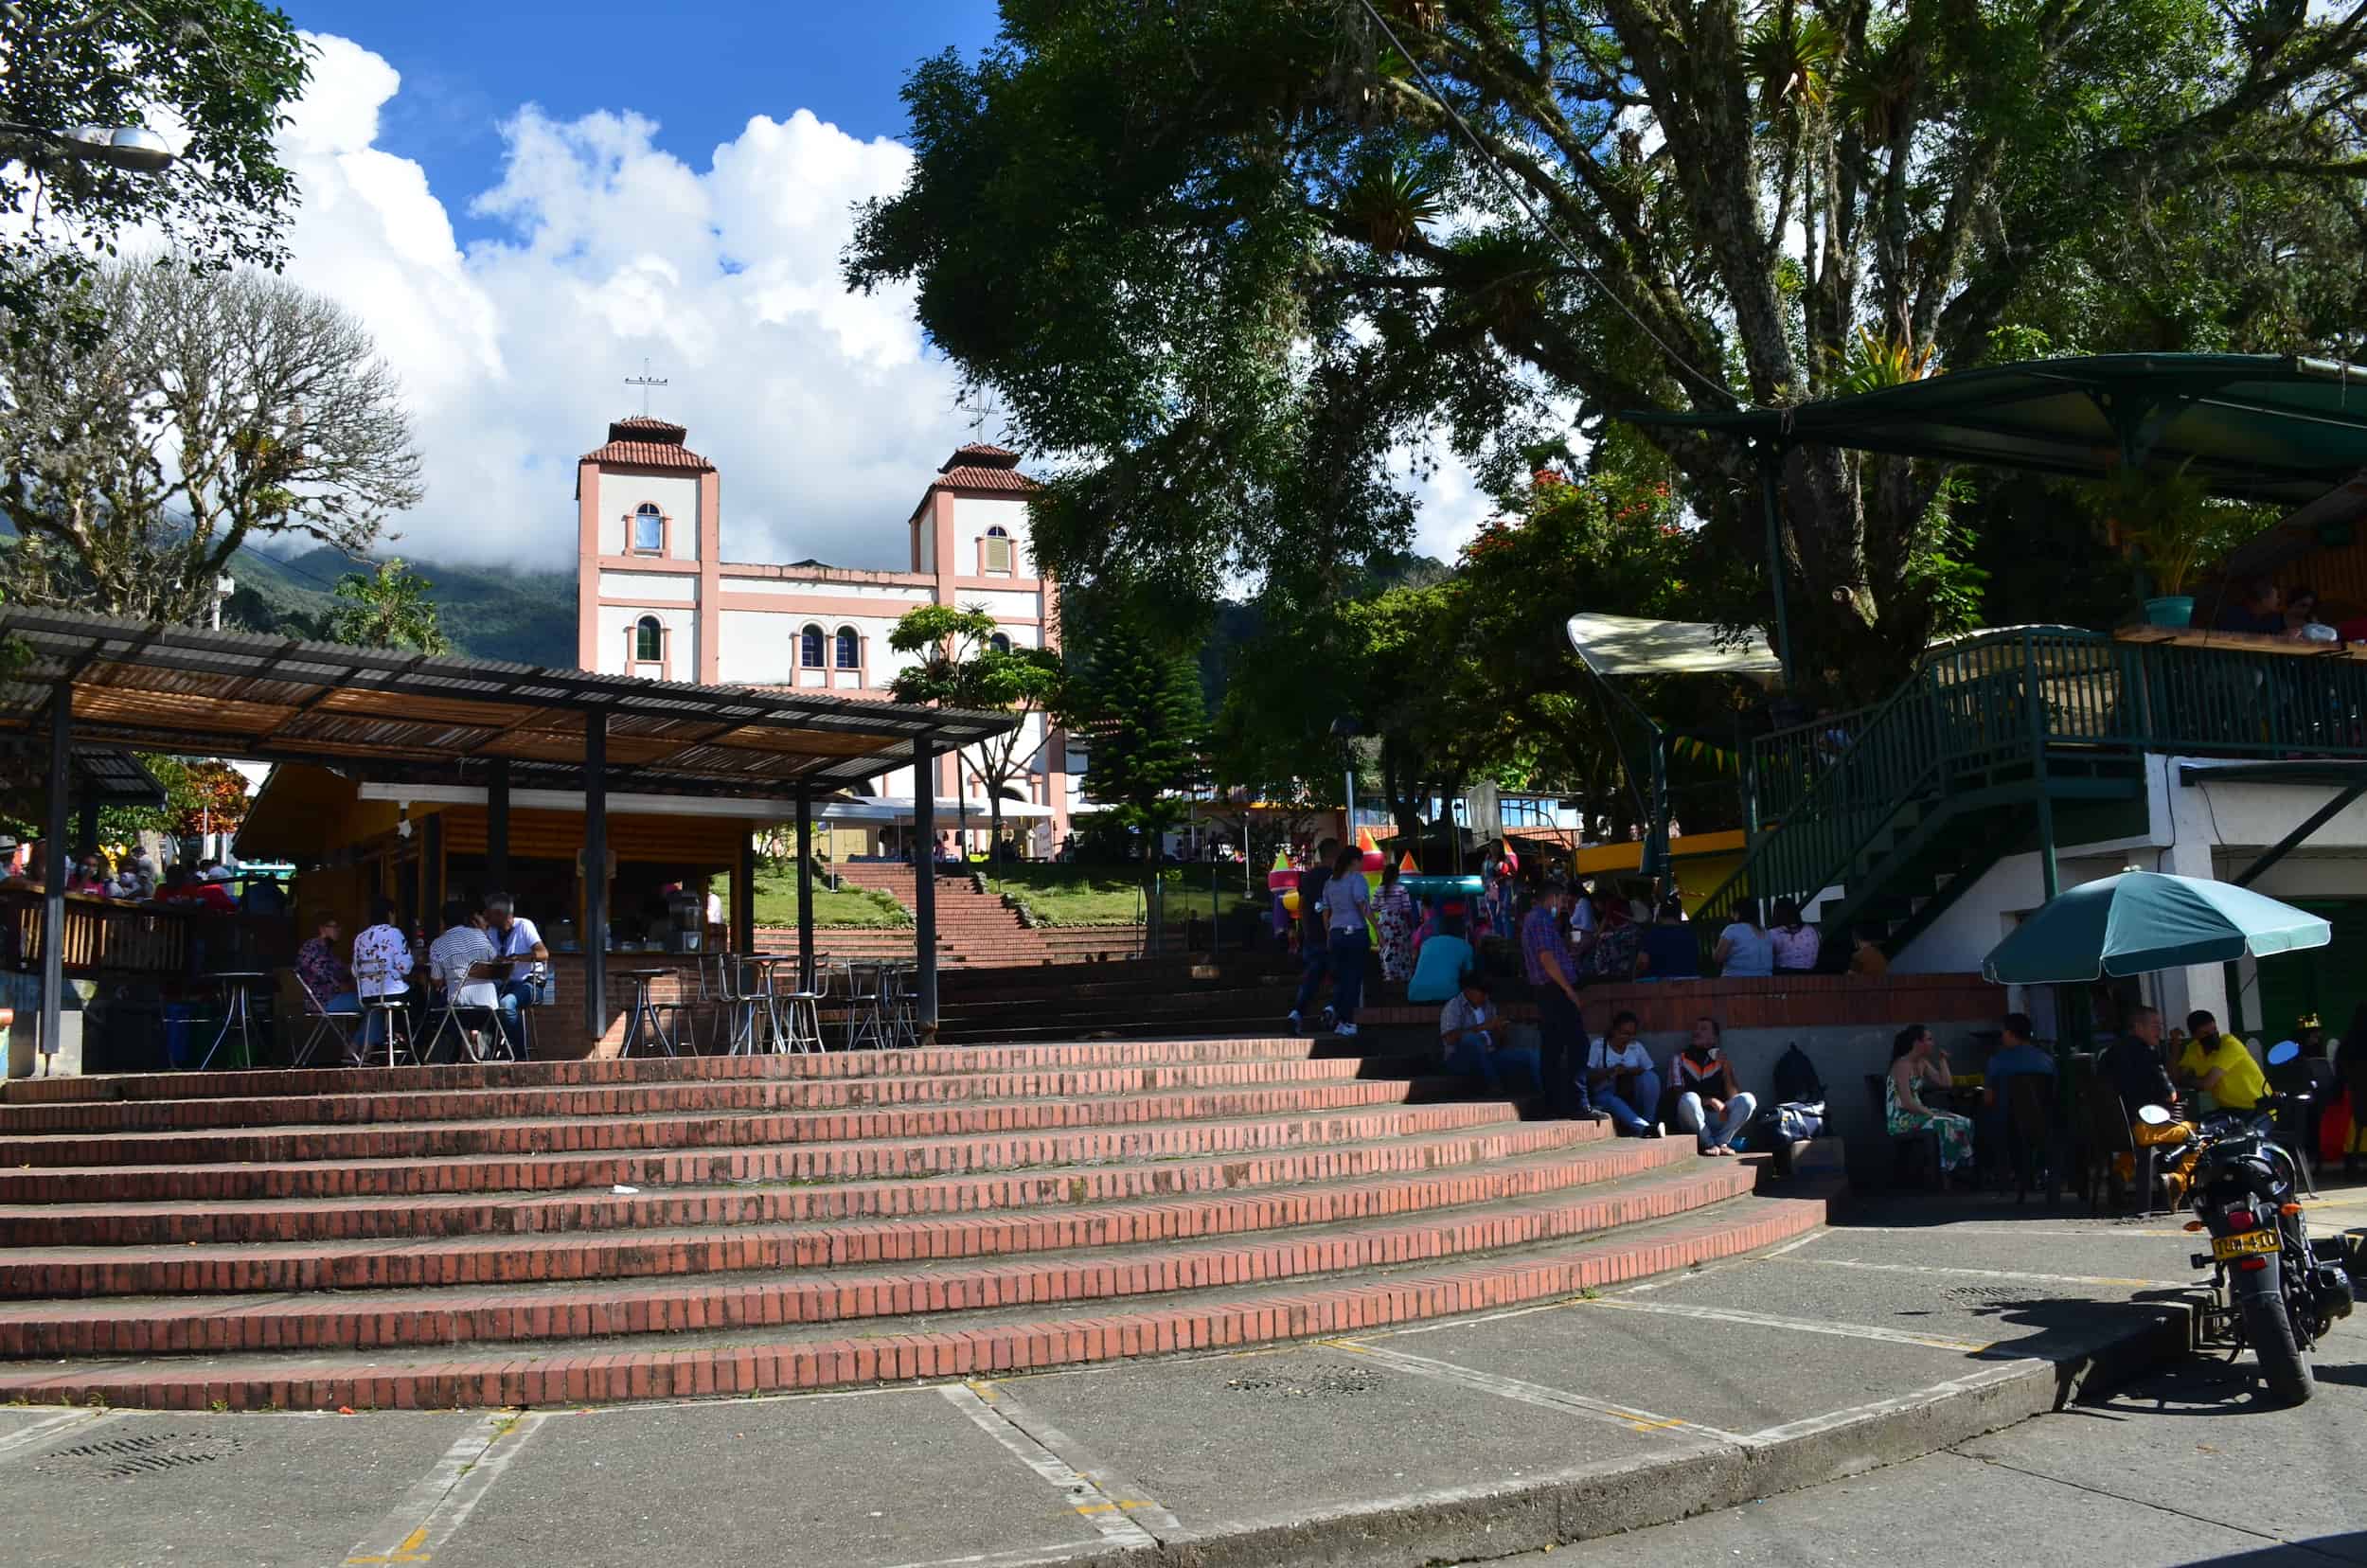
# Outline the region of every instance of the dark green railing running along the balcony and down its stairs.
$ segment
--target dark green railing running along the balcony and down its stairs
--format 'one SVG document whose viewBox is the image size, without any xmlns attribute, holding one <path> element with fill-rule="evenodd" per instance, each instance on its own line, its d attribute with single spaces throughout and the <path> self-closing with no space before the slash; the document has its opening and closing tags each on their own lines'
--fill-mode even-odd
<svg viewBox="0 0 2367 1568">
<path fill-rule="evenodd" d="M 1763 912 L 1844 886 L 1955 791 L 2040 793 L 2050 767 L 2147 751 L 2367 758 L 2367 661 L 2071 628 L 1941 644 L 1889 701 L 1756 741 L 1763 831 L 1695 919 L 1714 933 L 1744 898 Z"/>
</svg>

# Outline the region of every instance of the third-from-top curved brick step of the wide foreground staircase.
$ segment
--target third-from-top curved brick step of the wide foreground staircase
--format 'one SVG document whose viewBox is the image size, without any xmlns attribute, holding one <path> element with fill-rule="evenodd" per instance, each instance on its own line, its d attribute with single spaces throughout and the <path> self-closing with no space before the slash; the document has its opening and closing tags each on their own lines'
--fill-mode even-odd
<svg viewBox="0 0 2367 1568">
<path fill-rule="evenodd" d="M 1387 1087 L 1387 1085 L 1382 1085 Z M 1401 1092 L 1401 1085 L 1399 1085 Z M 935 1142 L 786 1142 L 769 1146 L 615 1153 L 525 1153 L 516 1158 L 289 1161 L 260 1165 L 90 1165 L 80 1170 L 0 1170 L 0 1203 L 104 1203 L 187 1199 L 417 1196 L 447 1191 L 554 1191 L 570 1187 L 682 1187 L 705 1182 L 826 1182 L 916 1177 L 1015 1165 L 1150 1161 L 1210 1153 L 1262 1153 L 1314 1144 L 1444 1132 L 1515 1120 L 1503 1101 L 1380 1106 L 1328 1116 L 1255 1120 L 1146 1123 L 944 1137 Z"/>
</svg>

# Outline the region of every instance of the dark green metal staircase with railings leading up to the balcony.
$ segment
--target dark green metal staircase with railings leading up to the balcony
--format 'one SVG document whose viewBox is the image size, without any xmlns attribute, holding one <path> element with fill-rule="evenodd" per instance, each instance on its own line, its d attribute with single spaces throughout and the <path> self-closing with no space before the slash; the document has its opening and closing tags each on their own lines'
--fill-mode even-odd
<svg viewBox="0 0 2367 1568">
<path fill-rule="evenodd" d="M 2142 801 L 2154 751 L 2367 756 L 2367 661 L 2069 628 L 1936 644 L 1889 701 L 1752 748 L 1763 827 L 1695 919 L 1707 943 L 1744 898 L 1794 898 L 1827 952 L 1870 926 L 1896 955 L 2000 857 L 2052 843 L 2057 810 Z"/>
</svg>

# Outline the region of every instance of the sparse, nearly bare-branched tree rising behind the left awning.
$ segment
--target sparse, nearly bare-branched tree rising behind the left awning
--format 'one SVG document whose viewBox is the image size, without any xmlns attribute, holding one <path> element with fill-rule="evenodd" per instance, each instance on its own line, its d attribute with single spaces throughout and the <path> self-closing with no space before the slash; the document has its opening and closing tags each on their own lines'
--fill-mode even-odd
<svg viewBox="0 0 2367 1568">
<path fill-rule="evenodd" d="M 0 341 L 0 514 L 12 592 L 194 621 L 244 545 L 348 554 L 421 497 L 395 372 L 334 301 L 270 272 L 111 263 L 52 317 Z"/>
</svg>

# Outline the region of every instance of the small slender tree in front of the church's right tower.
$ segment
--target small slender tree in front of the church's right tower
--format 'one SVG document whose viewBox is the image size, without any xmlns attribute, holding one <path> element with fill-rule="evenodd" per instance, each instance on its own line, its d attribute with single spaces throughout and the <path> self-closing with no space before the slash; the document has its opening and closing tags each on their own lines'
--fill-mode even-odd
<svg viewBox="0 0 2367 1568">
<path fill-rule="evenodd" d="M 992 613 L 975 606 L 921 604 L 904 611 L 888 632 L 888 647 L 918 658 L 895 673 L 890 692 L 899 703 L 937 703 L 973 713 L 1008 713 L 1008 732 L 963 748 L 961 765 L 987 786 L 992 853 L 1004 853 L 1004 793 L 1027 777 L 1030 760 L 1049 746 L 1044 718 L 1060 694 L 1060 658 L 1046 649 L 1018 649 Z"/>
</svg>

